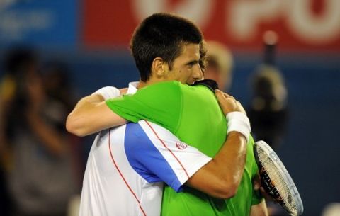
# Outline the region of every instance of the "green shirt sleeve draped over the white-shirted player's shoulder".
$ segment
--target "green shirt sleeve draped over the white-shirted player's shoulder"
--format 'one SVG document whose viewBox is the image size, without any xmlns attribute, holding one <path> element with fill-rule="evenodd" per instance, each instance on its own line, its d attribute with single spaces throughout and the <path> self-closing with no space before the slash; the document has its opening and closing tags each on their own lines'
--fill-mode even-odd
<svg viewBox="0 0 340 216">
<path fill-rule="evenodd" d="M 182 107 L 181 84 L 178 81 L 152 84 L 133 95 L 108 100 L 106 105 L 133 123 L 149 120 L 175 133 Z"/>
</svg>

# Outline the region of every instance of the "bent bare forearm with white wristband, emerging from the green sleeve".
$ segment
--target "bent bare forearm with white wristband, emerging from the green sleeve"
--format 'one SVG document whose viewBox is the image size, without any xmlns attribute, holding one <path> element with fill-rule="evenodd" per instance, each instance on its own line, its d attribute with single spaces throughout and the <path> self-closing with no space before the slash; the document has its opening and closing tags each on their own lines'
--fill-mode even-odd
<svg viewBox="0 0 340 216">
<path fill-rule="evenodd" d="M 106 105 L 105 100 L 120 96 L 120 93 L 125 93 L 126 89 L 119 91 L 112 88 L 114 87 L 110 87 L 110 89 L 104 87 L 90 96 L 81 98 L 74 110 L 67 116 L 67 131 L 79 137 L 84 137 L 110 127 L 125 124 L 126 120 L 113 113 Z M 101 91 L 103 89 L 106 92 Z M 111 91 L 111 93 L 107 93 L 108 91 Z"/>
</svg>

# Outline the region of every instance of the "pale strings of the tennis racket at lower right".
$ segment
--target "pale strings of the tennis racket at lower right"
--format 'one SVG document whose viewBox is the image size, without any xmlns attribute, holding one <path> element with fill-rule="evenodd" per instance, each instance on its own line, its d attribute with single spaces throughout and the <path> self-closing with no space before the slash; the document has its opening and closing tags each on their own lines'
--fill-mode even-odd
<svg viewBox="0 0 340 216">
<path fill-rule="evenodd" d="M 276 166 L 276 164 L 278 164 L 276 161 L 279 160 L 278 157 L 273 157 L 272 155 L 274 159 L 273 161 L 270 157 L 268 157 L 268 152 L 265 152 L 263 149 L 258 148 L 257 152 L 259 154 L 259 160 L 262 164 L 262 169 L 265 167 L 265 178 L 267 178 L 265 181 L 267 181 L 267 184 L 273 185 L 273 193 L 278 193 L 280 196 L 279 200 L 277 201 L 282 202 L 285 208 L 293 215 L 297 215 L 297 205 L 292 197 L 292 194 L 290 193 L 290 186 L 287 185 L 284 176 Z"/>
</svg>

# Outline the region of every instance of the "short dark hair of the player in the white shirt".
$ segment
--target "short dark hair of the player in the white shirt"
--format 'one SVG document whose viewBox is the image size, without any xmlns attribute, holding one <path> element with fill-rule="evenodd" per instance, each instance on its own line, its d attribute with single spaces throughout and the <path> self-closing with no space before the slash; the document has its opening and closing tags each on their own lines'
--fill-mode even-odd
<svg viewBox="0 0 340 216">
<path fill-rule="evenodd" d="M 169 13 L 154 13 L 145 18 L 132 35 L 130 48 L 140 79 L 151 75 L 152 61 L 161 57 L 171 69 L 174 59 L 186 44 L 200 44 L 203 35 L 191 21 Z"/>
</svg>

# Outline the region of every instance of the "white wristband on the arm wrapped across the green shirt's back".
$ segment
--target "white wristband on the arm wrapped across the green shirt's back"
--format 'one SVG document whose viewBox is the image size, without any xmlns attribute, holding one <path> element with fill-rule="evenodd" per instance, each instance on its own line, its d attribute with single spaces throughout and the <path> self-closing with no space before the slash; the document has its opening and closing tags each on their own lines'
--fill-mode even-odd
<svg viewBox="0 0 340 216">
<path fill-rule="evenodd" d="M 228 113 L 225 118 L 227 119 L 228 124 L 227 134 L 232 131 L 240 132 L 244 135 L 244 137 L 246 137 L 246 142 L 248 142 L 251 127 L 249 118 L 246 114 L 241 112 L 231 112 Z"/>
</svg>

